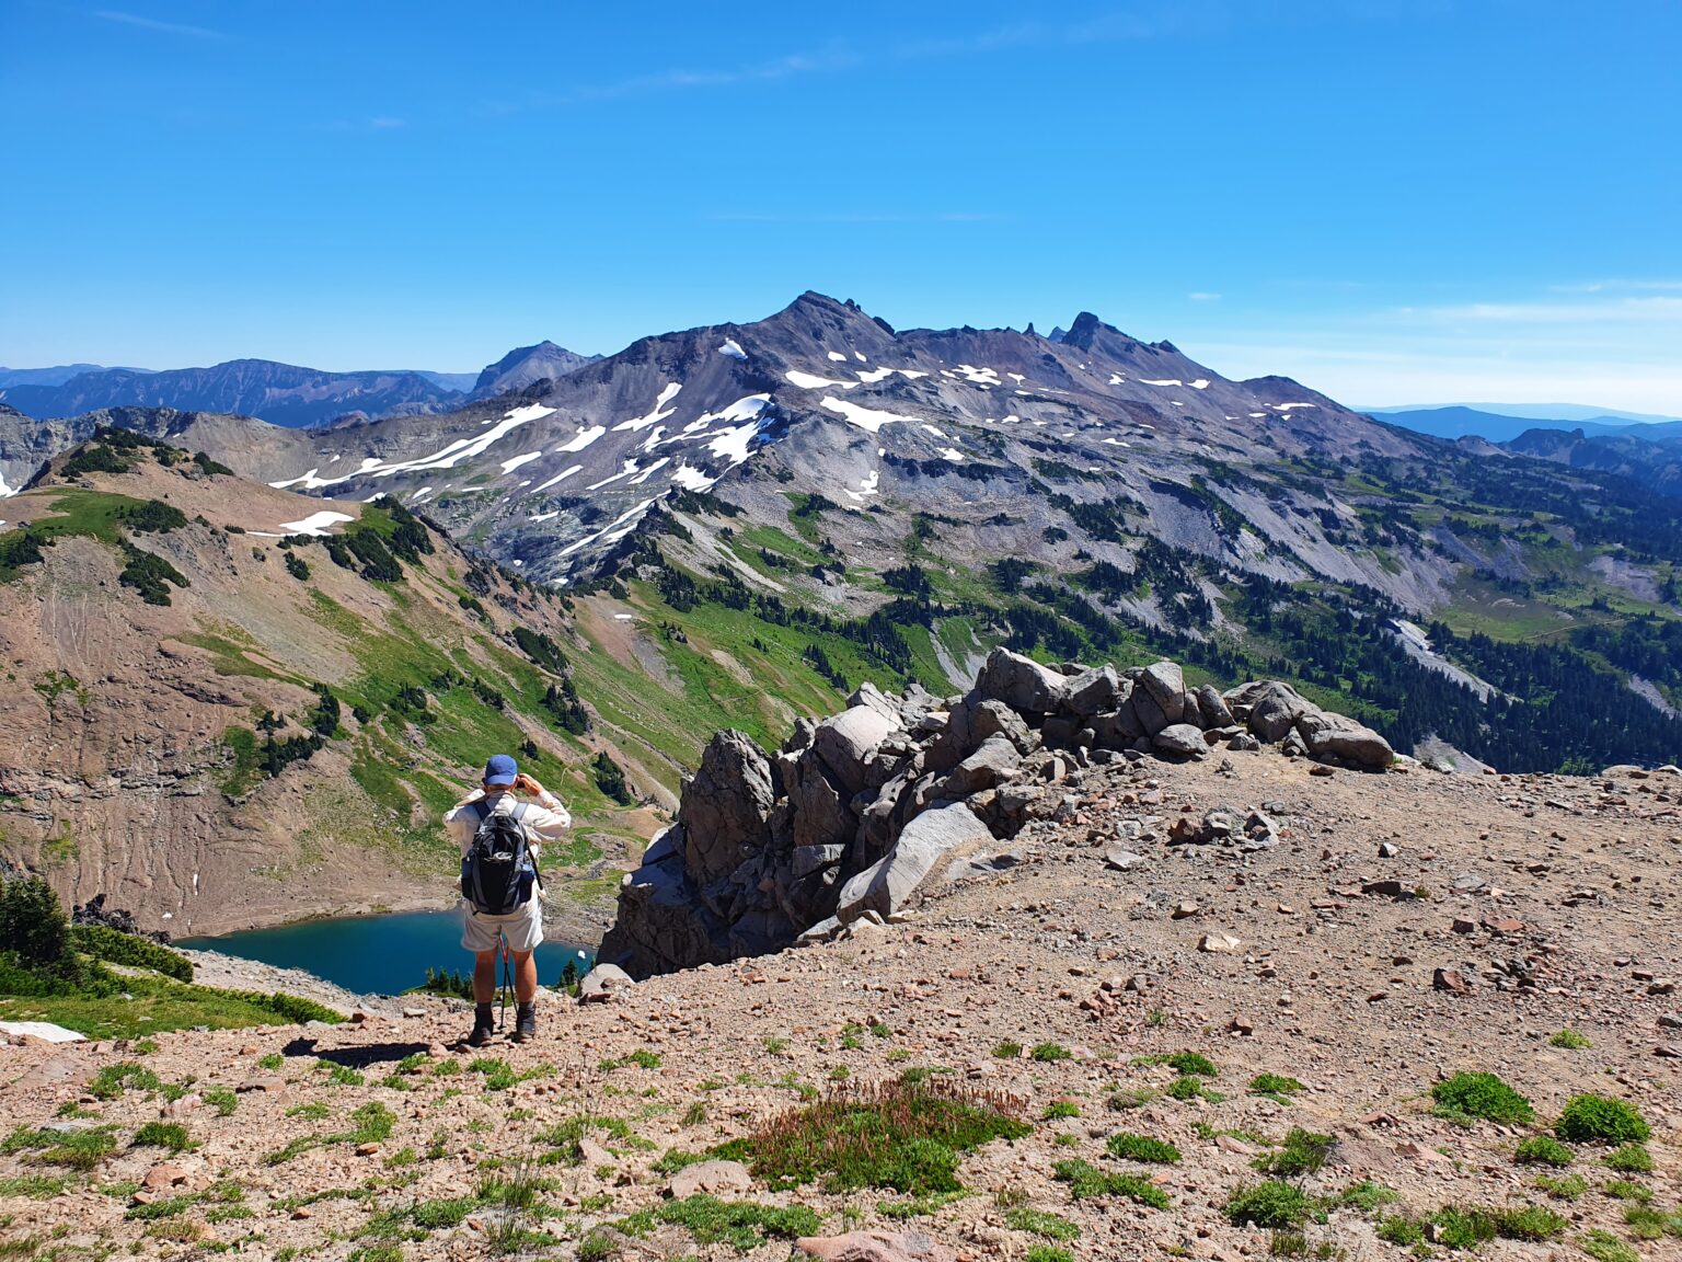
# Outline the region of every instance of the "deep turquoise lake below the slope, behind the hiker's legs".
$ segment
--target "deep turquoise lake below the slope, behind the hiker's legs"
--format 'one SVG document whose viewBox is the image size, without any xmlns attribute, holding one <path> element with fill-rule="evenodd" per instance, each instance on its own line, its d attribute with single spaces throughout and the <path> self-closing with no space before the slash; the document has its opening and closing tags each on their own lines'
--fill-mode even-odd
<svg viewBox="0 0 1682 1262">
<path fill-rule="evenodd" d="M 461 949 L 459 912 L 298 920 L 222 937 L 182 937 L 175 946 L 303 969 L 357 994 L 400 994 L 424 983 L 427 969 L 473 973 L 473 956 Z M 538 981 L 553 986 L 567 961 L 584 973 L 595 962 L 595 952 L 567 942 L 545 942 L 537 949 Z"/>
</svg>

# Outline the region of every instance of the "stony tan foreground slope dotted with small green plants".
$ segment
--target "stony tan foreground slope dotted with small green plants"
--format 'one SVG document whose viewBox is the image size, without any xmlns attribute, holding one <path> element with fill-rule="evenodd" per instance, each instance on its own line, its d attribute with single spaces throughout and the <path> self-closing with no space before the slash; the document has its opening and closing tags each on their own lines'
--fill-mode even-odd
<svg viewBox="0 0 1682 1262">
<path fill-rule="evenodd" d="M 20 1257 L 1675 1257 L 1682 779 L 1314 767 L 1028 782 L 1014 840 L 902 922 L 545 996 L 523 1047 L 451 1050 L 437 1000 L 25 1040 L 0 1232 Z M 1272 843 L 1184 841 L 1211 813 Z M 907 1143 L 954 1099 L 962 1134 Z"/>
</svg>

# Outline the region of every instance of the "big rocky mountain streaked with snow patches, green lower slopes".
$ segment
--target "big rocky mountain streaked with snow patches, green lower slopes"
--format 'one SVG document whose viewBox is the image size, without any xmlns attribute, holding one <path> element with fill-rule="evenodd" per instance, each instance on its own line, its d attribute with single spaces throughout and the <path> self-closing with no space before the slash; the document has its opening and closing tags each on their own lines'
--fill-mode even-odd
<svg viewBox="0 0 1682 1262">
<path fill-rule="evenodd" d="M 897 331 L 802 294 L 458 412 L 215 426 L 193 446 L 249 478 L 392 496 L 579 594 L 604 663 L 580 690 L 668 787 L 743 700 L 760 735 L 865 680 L 957 687 L 997 643 L 1288 678 L 1398 749 L 1510 771 L 1682 750 L 1675 498 L 1092 315 L 1055 342 Z"/>
</svg>

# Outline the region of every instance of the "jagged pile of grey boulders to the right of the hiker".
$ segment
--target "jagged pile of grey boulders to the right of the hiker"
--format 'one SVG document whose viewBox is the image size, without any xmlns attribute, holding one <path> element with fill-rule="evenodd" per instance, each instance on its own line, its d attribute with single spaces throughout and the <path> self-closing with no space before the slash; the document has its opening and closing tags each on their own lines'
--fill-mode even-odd
<svg viewBox="0 0 1682 1262">
<path fill-rule="evenodd" d="M 1001 648 L 962 697 L 866 683 L 775 754 L 742 732 L 713 737 L 676 823 L 626 875 L 600 959 L 649 976 L 886 920 L 940 860 L 1014 836 L 1038 782 L 1263 744 L 1364 771 L 1394 757 L 1287 683 L 1187 688 L 1172 661 L 1055 668 Z"/>
</svg>

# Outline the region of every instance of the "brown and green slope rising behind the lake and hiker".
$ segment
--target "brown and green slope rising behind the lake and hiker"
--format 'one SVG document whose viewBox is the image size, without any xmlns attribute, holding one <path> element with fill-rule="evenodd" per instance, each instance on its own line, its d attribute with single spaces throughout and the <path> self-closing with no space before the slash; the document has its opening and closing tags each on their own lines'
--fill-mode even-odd
<svg viewBox="0 0 1682 1262">
<path fill-rule="evenodd" d="M 496 750 L 579 814 L 557 887 L 641 851 L 557 597 L 400 506 L 321 510 L 101 431 L 5 517 L 0 845 L 66 904 L 175 934 L 442 904 L 437 814 Z"/>
</svg>

